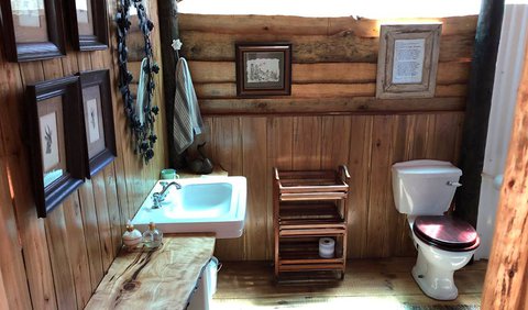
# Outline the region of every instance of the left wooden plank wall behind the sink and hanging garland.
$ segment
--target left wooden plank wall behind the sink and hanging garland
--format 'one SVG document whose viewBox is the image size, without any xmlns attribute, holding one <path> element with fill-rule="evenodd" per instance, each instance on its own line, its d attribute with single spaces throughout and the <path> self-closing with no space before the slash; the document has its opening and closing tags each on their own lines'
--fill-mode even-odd
<svg viewBox="0 0 528 310">
<path fill-rule="evenodd" d="M 0 54 L 0 308 L 82 309 L 121 246 L 127 219 L 165 166 L 164 120 L 156 122 L 156 156 L 144 166 L 133 154 L 117 86 L 116 2 L 108 1 L 110 45 L 107 51 L 78 53 L 43 62 L 8 63 Z M 156 12 L 156 1 L 150 1 Z M 157 25 L 156 14 L 152 14 Z M 160 36 L 153 34 L 161 59 Z M 3 44 L 2 44 L 3 46 Z M 111 70 L 118 157 L 69 196 L 46 219 L 37 219 L 32 196 L 23 95 L 32 82 Z M 155 102 L 163 102 L 162 75 L 156 77 Z"/>
</svg>

